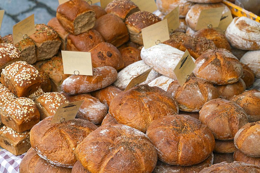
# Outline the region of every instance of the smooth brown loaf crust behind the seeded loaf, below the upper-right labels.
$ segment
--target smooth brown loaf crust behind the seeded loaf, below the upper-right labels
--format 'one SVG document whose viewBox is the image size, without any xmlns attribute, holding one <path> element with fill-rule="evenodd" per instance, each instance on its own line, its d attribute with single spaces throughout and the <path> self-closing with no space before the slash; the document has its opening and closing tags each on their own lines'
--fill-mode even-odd
<svg viewBox="0 0 260 173">
<path fill-rule="evenodd" d="M 210 41 L 213 41 L 217 48 L 223 48 L 231 51 L 226 36 L 213 28 L 200 29 L 195 32 L 192 37 L 206 37 Z"/>
</svg>

